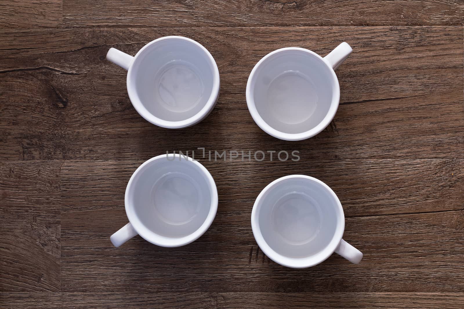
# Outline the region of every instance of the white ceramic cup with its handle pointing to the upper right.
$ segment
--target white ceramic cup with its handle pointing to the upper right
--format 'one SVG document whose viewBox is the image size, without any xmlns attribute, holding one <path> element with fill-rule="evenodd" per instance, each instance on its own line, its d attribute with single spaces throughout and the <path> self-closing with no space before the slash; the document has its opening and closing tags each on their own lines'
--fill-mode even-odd
<svg viewBox="0 0 464 309">
<path fill-rule="evenodd" d="M 334 119 L 340 102 L 334 70 L 352 51 L 343 42 L 323 58 L 299 47 L 264 56 L 246 84 L 253 120 L 278 139 L 302 140 L 321 132 Z"/>
</svg>

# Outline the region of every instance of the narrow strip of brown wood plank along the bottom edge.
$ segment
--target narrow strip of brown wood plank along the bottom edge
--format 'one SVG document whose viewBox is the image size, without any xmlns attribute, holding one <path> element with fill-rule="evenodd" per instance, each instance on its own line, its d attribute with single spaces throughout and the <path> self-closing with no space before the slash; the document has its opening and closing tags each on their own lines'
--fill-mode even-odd
<svg viewBox="0 0 464 309">
<path fill-rule="evenodd" d="M 20 308 L 388 308 L 462 309 L 463 293 L 15 293 L 4 309 Z"/>
</svg>

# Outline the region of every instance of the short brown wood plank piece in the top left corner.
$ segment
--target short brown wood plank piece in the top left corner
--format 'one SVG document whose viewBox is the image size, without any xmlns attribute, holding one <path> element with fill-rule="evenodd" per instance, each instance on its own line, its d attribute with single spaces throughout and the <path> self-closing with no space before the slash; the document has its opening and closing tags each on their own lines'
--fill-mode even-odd
<svg viewBox="0 0 464 309">
<path fill-rule="evenodd" d="M 1 0 L 0 6 L 0 29 L 56 28 L 63 22 L 62 0 Z"/>
</svg>

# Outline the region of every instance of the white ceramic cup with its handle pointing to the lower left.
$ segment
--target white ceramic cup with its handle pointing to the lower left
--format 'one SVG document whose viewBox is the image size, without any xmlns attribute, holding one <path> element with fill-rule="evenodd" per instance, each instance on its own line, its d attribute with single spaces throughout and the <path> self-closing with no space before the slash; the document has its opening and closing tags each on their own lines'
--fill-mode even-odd
<svg viewBox="0 0 464 309">
<path fill-rule="evenodd" d="M 135 170 L 124 203 L 129 223 L 111 235 L 114 246 L 138 234 L 158 246 L 178 247 L 210 227 L 218 191 L 203 165 L 171 153 L 151 158 Z"/>
</svg>

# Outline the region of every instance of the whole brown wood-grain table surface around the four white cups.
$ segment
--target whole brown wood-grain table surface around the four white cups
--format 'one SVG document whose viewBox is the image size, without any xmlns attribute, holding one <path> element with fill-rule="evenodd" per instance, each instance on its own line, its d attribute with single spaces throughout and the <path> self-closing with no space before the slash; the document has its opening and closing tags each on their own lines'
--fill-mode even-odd
<svg viewBox="0 0 464 309">
<path fill-rule="evenodd" d="M 464 308 L 463 1 L 1 3 L 1 308 Z M 167 35 L 200 42 L 219 67 L 217 106 L 187 129 L 143 120 L 105 59 Z M 342 41 L 354 51 L 331 125 L 300 142 L 261 131 L 245 101 L 254 64 Z M 200 159 L 219 193 L 208 231 L 178 248 L 138 236 L 114 248 L 137 166 L 197 147 L 301 160 Z M 334 189 L 361 264 L 334 254 L 297 270 L 260 251 L 253 202 L 290 174 Z"/>
</svg>

